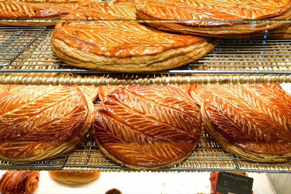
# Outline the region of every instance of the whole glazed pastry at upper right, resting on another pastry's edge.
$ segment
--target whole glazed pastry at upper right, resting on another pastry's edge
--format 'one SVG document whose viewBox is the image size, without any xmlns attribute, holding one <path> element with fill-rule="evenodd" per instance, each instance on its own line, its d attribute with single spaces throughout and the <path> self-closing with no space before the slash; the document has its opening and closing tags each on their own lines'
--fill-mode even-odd
<svg viewBox="0 0 291 194">
<path fill-rule="evenodd" d="M 291 0 L 136 0 L 138 16 L 141 19 L 155 19 L 147 21 L 153 27 L 213 37 L 259 36 L 265 35 L 266 30 L 272 32 L 283 28 L 289 24 L 240 20 L 290 20 L 290 7 Z"/>
</svg>

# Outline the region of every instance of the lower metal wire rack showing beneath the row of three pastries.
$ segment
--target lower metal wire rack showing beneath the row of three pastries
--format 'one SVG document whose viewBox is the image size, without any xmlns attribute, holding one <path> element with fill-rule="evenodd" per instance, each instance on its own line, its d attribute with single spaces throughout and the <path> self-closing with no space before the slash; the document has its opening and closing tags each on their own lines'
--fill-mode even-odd
<svg viewBox="0 0 291 194">
<path fill-rule="evenodd" d="M 98 148 L 91 133 L 86 141 L 74 151 L 57 159 L 32 164 L 15 164 L 0 161 L 0 170 L 63 170 L 63 171 L 137 171 L 108 159 Z M 252 162 L 230 154 L 218 146 L 202 129 L 200 140 L 194 151 L 175 166 L 151 171 L 243 171 L 291 173 L 291 161 L 282 163 Z"/>
</svg>

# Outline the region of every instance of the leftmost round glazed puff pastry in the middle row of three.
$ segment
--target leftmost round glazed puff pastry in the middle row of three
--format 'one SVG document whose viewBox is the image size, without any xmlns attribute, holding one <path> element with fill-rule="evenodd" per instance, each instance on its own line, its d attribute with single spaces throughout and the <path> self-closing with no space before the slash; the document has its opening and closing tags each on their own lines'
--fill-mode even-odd
<svg viewBox="0 0 291 194">
<path fill-rule="evenodd" d="M 93 117 L 93 102 L 77 86 L 11 85 L 0 95 L 0 158 L 56 158 L 83 143 Z"/>
</svg>

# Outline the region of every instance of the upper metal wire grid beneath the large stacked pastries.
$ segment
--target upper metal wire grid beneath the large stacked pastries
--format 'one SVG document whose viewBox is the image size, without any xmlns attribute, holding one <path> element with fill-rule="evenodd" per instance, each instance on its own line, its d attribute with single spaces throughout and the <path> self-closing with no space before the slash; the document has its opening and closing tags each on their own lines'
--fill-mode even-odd
<svg viewBox="0 0 291 194">
<path fill-rule="evenodd" d="M 63 74 L 94 75 L 119 79 L 120 73 L 74 68 L 59 61 L 49 46 L 53 27 L 0 27 L 0 71 L 5 73 L 41 73 L 46 78 Z M 230 38 L 221 42 L 203 58 L 181 68 L 124 77 L 155 78 L 197 75 L 284 75 L 290 82 L 291 40 Z M 117 75 L 116 75 L 117 74 Z M 142 76 L 141 76 L 142 75 Z M 6 75 L 7 76 L 7 75 Z M 17 76 L 17 74 L 16 74 Z M 29 75 L 27 75 L 29 77 Z"/>
</svg>

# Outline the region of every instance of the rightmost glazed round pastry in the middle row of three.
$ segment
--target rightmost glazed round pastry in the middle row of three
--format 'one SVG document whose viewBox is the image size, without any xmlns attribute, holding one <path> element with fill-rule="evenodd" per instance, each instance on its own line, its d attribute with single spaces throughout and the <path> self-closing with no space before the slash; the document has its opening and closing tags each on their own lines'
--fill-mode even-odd
<svg viewBox="0 0 291 194">
<path fill-rule="evenodd" d="M 279 84 L 214 88 L 201 105 L 211 137 L 226 151 L 259 162 L 291 158 L 291 95 Z"/>
</svg>

